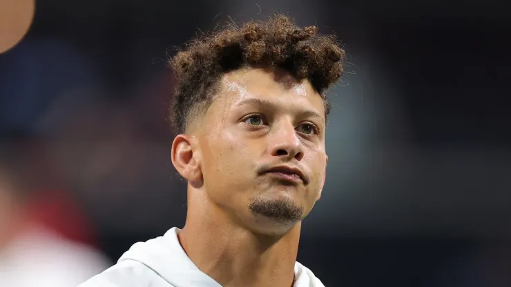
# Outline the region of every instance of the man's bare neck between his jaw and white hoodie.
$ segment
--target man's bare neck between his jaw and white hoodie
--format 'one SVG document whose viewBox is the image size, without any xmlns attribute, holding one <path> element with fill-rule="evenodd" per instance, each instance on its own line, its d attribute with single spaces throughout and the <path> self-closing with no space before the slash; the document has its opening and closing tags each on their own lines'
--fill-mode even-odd
<svg viewBox="0 0 511 287">
<path fill-rule="evenodd" d="M 190 197 L 189 197 L 190 198 Z M 300 223 L 284 235 L 260 235 L 234 224 L 211 204 L 189 202 L 180 243 L 191 261 L 224 287 L 290 287 Z"/>
</svg>

